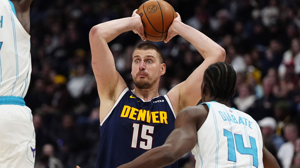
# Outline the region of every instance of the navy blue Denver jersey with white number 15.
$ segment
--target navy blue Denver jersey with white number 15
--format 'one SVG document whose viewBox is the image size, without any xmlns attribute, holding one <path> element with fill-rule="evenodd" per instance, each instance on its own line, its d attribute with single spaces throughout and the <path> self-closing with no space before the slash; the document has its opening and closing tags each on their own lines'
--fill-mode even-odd
<svg viewBox="0 0 300 168">
<path fill-rule="evenodd" d="M 174 124 L 167 95 L 145 102 L 126 88 L 100 123 L 97 168 L 116 168 L 163 145 Z M 166 168 L 177 168 L 177 162 Z"/>
</svg>

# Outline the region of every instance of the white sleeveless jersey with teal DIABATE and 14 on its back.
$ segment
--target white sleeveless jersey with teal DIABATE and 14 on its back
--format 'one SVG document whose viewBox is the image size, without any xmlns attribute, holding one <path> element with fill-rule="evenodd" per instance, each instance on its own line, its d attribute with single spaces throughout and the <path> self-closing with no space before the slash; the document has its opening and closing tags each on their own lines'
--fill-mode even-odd
<svg viewBox="0 0 300 168">
<path fill-rule="evenodd" d="M 263 168 L 262 134 L 256 121 L 221 103 L 205 104 L 208 116 L 192 150 L 196 168 Z"/>
</svg>

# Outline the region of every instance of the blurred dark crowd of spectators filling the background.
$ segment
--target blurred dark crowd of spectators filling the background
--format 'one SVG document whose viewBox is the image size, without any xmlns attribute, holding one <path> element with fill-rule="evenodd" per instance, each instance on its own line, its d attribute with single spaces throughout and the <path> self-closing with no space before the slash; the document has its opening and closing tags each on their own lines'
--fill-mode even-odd
<svg viewBox="0 0 300 168">
<path fill-rule="evenodd" d="M 32 78 L 26 105 L 36 131 L 36 168 L 93 168 L 99 134 L 97 85 L 88 41 L 92 26 L 130 17 L 141 0 L 34 0 Z M 232 107 L 261 127 L 267 149 L 283 168 L 300 168 L 300 1 L 167 0 L 182 17 L 226 50 L 237 72 Z M 116 69 L 130 89 L 131 54 L 142 43 L 133 32 L 109 43 Z M 182 37 L 156 42 L 167 72 L 159 93 L 184 81 L 203 58 Z M 185 155 L 179 168 L 194 167 Z"/>
</svg>

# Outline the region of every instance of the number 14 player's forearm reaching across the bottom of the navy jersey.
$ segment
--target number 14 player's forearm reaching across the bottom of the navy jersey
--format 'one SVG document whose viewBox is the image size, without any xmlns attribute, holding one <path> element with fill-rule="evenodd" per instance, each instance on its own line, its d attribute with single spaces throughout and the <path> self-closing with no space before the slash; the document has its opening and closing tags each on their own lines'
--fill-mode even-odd
<svg viewBox="0 0 300 168">
<path fill-rule="evenodd" d="M 174 163 L 177 157 L 171 151 L 172 147 L 163 145 L 145 152 L 133 161 L 117 168 L 161 168 Z M 180 157 L 179 157 L 180 158 Z"/>
</svg>

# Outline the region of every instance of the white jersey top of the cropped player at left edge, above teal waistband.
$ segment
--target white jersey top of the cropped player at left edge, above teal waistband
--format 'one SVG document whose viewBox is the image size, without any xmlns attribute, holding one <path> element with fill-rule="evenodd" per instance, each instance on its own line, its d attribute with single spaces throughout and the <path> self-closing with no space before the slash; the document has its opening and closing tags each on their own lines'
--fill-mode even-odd
<svg viewBox="0 0 300 168">
<path fill-rule="evenodd" d="M 0 0 L 0 96 L 27 93 L 31 75 L 30 35 L 11 1 Z"/>
</svg>

